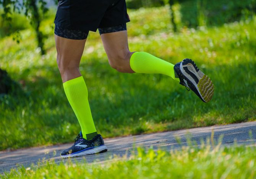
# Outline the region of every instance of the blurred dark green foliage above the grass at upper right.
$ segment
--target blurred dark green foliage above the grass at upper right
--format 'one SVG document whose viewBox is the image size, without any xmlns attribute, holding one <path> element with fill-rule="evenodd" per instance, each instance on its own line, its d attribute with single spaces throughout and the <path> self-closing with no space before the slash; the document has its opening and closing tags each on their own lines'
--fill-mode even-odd
<svg viewBox="0 0 256 179">
<path fill-rule="evenodd" d="M 178 4 L 182 25 L 187 27 L 222 25 L 248 19 L 256 12 L 255 0 L 126 0 L 126 4 L 131 9 Z"/>
</svg>

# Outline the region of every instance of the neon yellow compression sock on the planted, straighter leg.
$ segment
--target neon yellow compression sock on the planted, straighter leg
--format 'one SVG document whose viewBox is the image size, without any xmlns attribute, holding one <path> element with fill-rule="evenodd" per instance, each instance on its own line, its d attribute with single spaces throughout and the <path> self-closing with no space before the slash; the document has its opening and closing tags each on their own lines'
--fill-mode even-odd
<svg viewBox="0 0 256 179">
<path fill-rule="evenodd" d="M 83 138 L 90 140 L 97 135 L 88 101 L 88 90 L 83 76 L 63 83 L 66 97 L 75 112 Z"/>
</svg>

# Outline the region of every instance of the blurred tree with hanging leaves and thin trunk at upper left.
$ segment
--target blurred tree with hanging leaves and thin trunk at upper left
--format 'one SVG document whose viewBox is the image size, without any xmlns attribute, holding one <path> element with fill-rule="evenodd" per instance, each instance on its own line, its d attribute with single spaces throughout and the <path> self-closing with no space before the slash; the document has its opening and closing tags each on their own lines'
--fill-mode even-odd
<svg viewBox="0 0 256 179">
<path fill-rule="evenodd" d="M 9 22 L 9 26 L 11 26 L 12 13 L 24 14 L 30 19 L 30 24 L 36 31 L 38 47 L 41 48 L 41 54 L 45 54 L 44 36 L 39 27 L 42 17 L 48 11 L 46 2 L 44 0 L 0 0 L 0 5 L 3 6 L 2 17 Z"/>
</svg>

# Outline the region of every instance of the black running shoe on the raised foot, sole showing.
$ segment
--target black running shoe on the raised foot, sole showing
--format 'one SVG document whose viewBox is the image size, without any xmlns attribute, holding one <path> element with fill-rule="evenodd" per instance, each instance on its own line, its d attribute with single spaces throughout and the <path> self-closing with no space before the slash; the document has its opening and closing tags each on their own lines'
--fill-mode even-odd
<svg viewBox="0 0 256 179">
<path fill-rule="evenodd" d="M 180 79 L 180 84 L 192 89 L 203 102 L 209 102 L 214 93 L 211 79 L 201 72 L 194 61 L 184 59 L 174 66 L 175 77 Z"/>
</svg>

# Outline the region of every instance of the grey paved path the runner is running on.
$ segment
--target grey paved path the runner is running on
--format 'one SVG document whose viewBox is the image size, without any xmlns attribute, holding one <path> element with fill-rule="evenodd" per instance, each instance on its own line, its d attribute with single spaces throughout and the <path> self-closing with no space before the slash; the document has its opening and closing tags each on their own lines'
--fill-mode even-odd
<svg viewBox="0 0 256 179">
<path fill-rule="evenodd" d="M 179 131 L 170 131 L 164 133 L 142 134 L 137 136 L 117 137 L 105 139 L 105 145 L 108 152 L 96 155 L 87 155 L 86 161 L 91 163 L 93 161 L 107 161 L 111 160 L 114 155 L 130 154 L 133 146 L 152 146 L 154 149 L 178 149 L 181 145 L 186 145 L 186 137 L 191 136 L 192 141 L 200 143 L 201 139 L 206 140 L 211 136 L 212 129 L 214 130 L 214 139 L 217 141 L 220 135 L 224 135 L 222 144 L 230 145 L 236 140 L 238 144 L 256 144 L 256 121 L 223 125 L 211 126 L 203 128 L 184 129 Z M 252 137 L 249 136 L 249 131 L 252 131 Z M 181 145 L 177 144 L 176 137 L 181 139 Z M 67 159 L 60 158 L 60 152 L 73 145 L 62 144 L 53 145 L 50 147 L 32 147 L 29 149 L 19 149 L 15 151 L 0 151 L 0 173 L 9 171 L 18 165 L 28 167 L 31 163 L 37 163 L 39 159 L 53 158 L 56 163 L 66 161 Z M 72 158 L 72 160 L 83 161 L 84 157 Z"/>
</svg>

